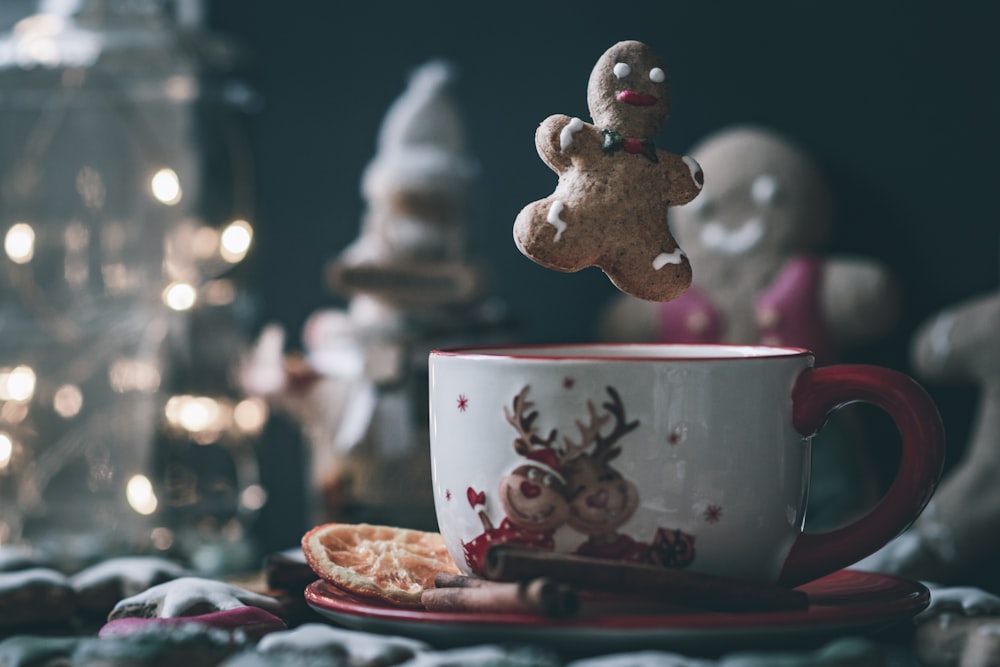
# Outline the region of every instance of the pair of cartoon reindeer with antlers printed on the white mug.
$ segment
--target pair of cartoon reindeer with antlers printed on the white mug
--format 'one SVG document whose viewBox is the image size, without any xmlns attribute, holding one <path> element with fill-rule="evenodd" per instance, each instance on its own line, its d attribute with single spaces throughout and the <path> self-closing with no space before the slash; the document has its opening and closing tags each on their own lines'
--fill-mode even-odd
<svg viewBox="0 0 1000 667">
<path fill-rule="evenodd" d="M 693 535 L 659 528 L 652 542 L 643 542 L 620 531 L 641 499 L 635 484 L 611 465 L 622 453 L 621 439 L 639 427 L 638 420 L 626 417 L 618 391 L 607 387 L 609 400 L 601 405 L 603 413 L 588 399 L 588 421 L 576 420 L 578 439 L 564 437 L 559 447 L 557 429 L 545 436 L 539 433 L 539 413 L 528 400 L 529 390 L 530 386 L 523 387 L 511 407 L 503 409 L 517 433 L 514 450 L 524 461 L 498 484 L 505 514 L 498 527 L 485 511 L 485 492 L 472 487 L 466 492 L 473 509 L 481 507 L 478 514 L 484 529 L 462 544 L 469 567 L 481 572 L 492 544 L 516 543 L 552 551 L 555 533 L 563 527 L 584 536 L 576 547 L 580 555 L 664 567 L 689 565 L 694 559 Z M 610 430 L 602 433 L 609 423 Z"/>
</svg>

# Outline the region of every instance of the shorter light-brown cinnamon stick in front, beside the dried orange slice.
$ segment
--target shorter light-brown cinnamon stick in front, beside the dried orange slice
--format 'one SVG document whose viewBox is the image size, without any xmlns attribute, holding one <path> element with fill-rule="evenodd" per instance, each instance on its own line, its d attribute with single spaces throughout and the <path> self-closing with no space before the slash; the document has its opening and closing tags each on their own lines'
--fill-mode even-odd
<svg viewBox="0 0 1000 667">
<path fill-rule="evenodd" d="M 420 602 L 428 611 L 528 612 L 551 618 L 565 618 L 575 614 L 579 607 L 575 590 L 546 578 L 497 583 L 439 573 L 435 577 L 435 586 L 438 587 L 425 589 L 420 596 Z"/>
</svg>

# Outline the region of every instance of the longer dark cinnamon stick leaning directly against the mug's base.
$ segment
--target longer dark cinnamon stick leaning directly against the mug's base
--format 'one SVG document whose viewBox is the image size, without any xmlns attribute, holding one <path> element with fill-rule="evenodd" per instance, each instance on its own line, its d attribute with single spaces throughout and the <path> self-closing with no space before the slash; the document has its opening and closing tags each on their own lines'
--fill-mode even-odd
<svg viewBox="0 0 1000 667">
<path fill-rule="evenodd" d="M 785 611 L 809 607 L 805 593 L 780 586 L 507 544 L 489 548 L 484 570 L 484 576 L 493 581 L 547 577 L 581 589 L 631 594 L 712 611 Z"/>
</svg>

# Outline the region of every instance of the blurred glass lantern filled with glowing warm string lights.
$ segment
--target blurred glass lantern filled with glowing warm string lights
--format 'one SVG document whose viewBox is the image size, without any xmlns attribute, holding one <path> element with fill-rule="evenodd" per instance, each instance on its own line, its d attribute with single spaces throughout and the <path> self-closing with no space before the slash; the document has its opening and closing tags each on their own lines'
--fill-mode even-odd
<svg viewBox="0 0 1000 667">
<path fill-rule="evenodd" d="M 60 0 L 57 4 L 66 3 Z M 137 13 L 131 5 L 145 8 L 157 3 L 138 0 L 126 4 L 129 8 L 123 10 L 123 21 L 131 21 L 133 15 L 139 16 L 146 11 Z M 174 388 L 168 387 L 168 381 L 174 376 L 163 373 L 161 377 L 164 359 L 158 354 L 164 351 L 167 327 L 183 320 L 174 312 L 183 313 L 201 306 L 230 306 L 236 302 L 234 284 L 220 276 L 243 261 L 251 248 L 253 230 L 250 224 L 235 218 L 249 215 L 252 209 L 252 188 L 248 195 L 243 181 L 253 170 L 238 168 L 229 174 L 234 183 L 233 209 L 228 214 L 207 215 L 201 210 L 199 195 L 204 180 L 199 176 L 201 163 L 198 158 L 203 146 L 200 142 L 187 144 L 190 137 L 177 132 L 183 129 L 182 124 L 166 122 L 147 126 L 141 122 L 143 114 L 135 113 L 136 109 L 132 108 L 133 103 L 140 105 L 140 109 L 150 103 L 156 105 L 157 113 L 164 109 L 164 117 L 168 119 L 175 117 L 168 115 L 175 111 L 188 114 L 191 109 L 201 108 L 192 106 L 205 92 L 197 74 L 182 67 L 163 79 L 159 76 L 160 69 L 156 68 L 155 73 L 150 72 L 156 78 L 150 81 L 157 85 L 150 90 L 157 94 L 150 99 L 143 96 L 135 100 L 124 87 L 105 86 L 105 81 L 115 83 L 119 69 L 132 73 L 127 66 L 119 67 L 117 55 L 138 52 L 137 47 L 129 44 L 122 50 L 117 41 L 105 41 L 118 34 L 117 17 L 114 21 L 105 21 L 103 16 L 89 17 L 87 29 L 77 30 L 76 20 L 85 13 L 76 10 L 75 6 L 67 10 L 65 18 L 39 13 L 19 22 L 12 33 L 6 29 L 0 31 L 0 75 L 8 70 L 14 72 L 15 78 L 8 81 L 15 84 L 8 91 L 12 99 L 20 92 L 17 86 L 24 83 L 23 74 L 17 71 L 18 63 L 24 65 L 25 70 L 49 67 L 63 70 L 56 71 L 54 77 L 46 74 L 44 83 L 53 86 L 51 96 L 38 95 L 34 87 L 27 89 L 25 108 L 37 113 L 0 114 L 4 121 L 14 120 L 10 129 L 15 141 L 7 148 L 20 149 L 16 139 L 21 136 L 26 139 L 24 149 L 12 153 L 13 161 L 7 165 L 11 169 L 4 172 L 6 188 L 0 198 L 0 211 L 7 215 L 0 223 L 0 269 L 6 264 L 8 277 L 12 278 L 7 287 L 15 291 L 13 296 L 19 297 L 25 305 L 26 317 L 33 317 L 35 313 L 44 315 L 37 322 L 38 330 L 44 331 L 44 335 L 33 335 L 28 330 L 25 335 L 16 336 L 14 341 L 8 341 L 16 354 L 8 352 L 6 358 L 0 358 L 0 480 L 5 477 L 7 480 L 0 482 L 0 504 L 8 506 L 9 510 L 12 498 L 17 496 L 14 504 L 19 512 L 24 510 L 21 512 L 24 516 L 27 517 L 27 511 L 31 510 L 56 525 L 60 523 L 54 514 L 59 503 L 90 502 L 73 491 L 74 484 L 62 483 L 61 477 L 53 477 L 58 479 L 58 484 L 48 484 L 47 478 L 37 482 L 38 488 L 33 490 L 33 495 L 27 494 L 31 498 L 24 493 L 18 495 L 22 489 L 17 477 L 42 473 L 41 466 L 36 470 L 33 465 L 25 465 L 32 462 L 35 447 L 41 447 L 39 451 L 48 456 L 45 447 L 50 447 L 49 442 L 75 443 L 93 437 L 100 438 L 101 446 L 106 446 L 108 452 L 107 456 L 102 453 L 99 457 L 88 454 L 79 466 L 87 475 L 86 483 L 95 491 L 93 502 L 97 511 L 93 516 L 109 526 L 115 524 L 113 519 L 117 518 L 109 513 L 119 511 L 127 514 L 134 511 L 138 515 L 156 513 L 164 520 L 174 521 L 178 519 L 166 511 L 173 509 L 173 496 L 170 503 L 164 496 L 165 504 L 159 504 L 158 494 L 164 494 L 160 486 L 163 471 L 152 467 L 123 471 L 123 465 L 134 463 L 132 457 L 125 456 L 119 461 L 119 443 L 104 440 L 117 439 L 120 429 L 137 427 L 134 434 L 129 434 L 126 446 L 147 444 L 138 439 L 149 437 L 154 425 L 141 418 L 137 422 L 135 418 L 145 414 L 147 406 L 152 407 L 147 398 L 162 405 L 160 401 L 174 393 Z M 118 11 L 109 11 L 108 18 Z M 139 20 L 146 23 L 145 18 Z M 155 34 L 160 34 L 161 29 L 162 26 L 157 26 Z M 165 48 L 159 42 L 152 44 L 148 51 L 150 62 L 162 56 L 172 58 L 163 61 L 164 65 L 175 60 L 181 62 L 174 59 L 173 47 L 169 53 Z M 98 59 L 105 52 L 116 56 L 107 59 L 108 63 L 115 63 L 114 71 L 105 71 L 105 59 Z M 142 53 L 145 56 L 147 52 Z M 145 58 L 140 60 L 145 62 Z M 145 77 L 148 68 L 141 68 L 140 60 L 136 61 L 140 68 L 135 74 Z M 91 69 L 97 70 L 93 76 Z M 98 76 L 102 73 L 103 76 Z M 145 83 L 146 79 L 142 81 Z M 66 94 L 62 94 L 64 92 Z M 85 94 L 80 95 L 80 92 Z M 36 99 L 43 103 L 36 105 Z M 98 105 L 92 105 L 91 100 L 96 100 Z M 15 111 L 20 111 L 21 107 L 16 106 Z M 101 119 L 90 122 L 87 114 L 95 108 L 106 107 L 122 113 L 104 114 Z M 77 116 L 78 112 L 82 115 Z M 79 122 L 78 118 L 84 122 Z M 132 122 L 136 119 L 140 121 L 138 124 Z M 52 126 L 65 131 L 45 131 Z M 103 142 L 108 150 L 89 162 L 73 162 L 83 157 L 76 153 L 88 145 L 76 136 L 81 129 L 88 135 L 84 137 L 86 141 Z M 226 144 L 233 140 L 245 141 L 239 132 L 213 133 L 215 135 Z M 232 144 L 227 148 L 231 156 L 240 159 L 235 166 L 244 167 L 249 155 L 247 146 Z M 79 164 L 75 178 L 64 170 L 59 171 L 58 165 L 63 164 Z M 194 166 L 194 171 L 188 165 Z M 53 174 L 62 177 L 53 178 Z M 213 178 L 218 180 L 214 173 Z M 112 182 L 116 188 L 114 197 L 109 193 Z M 62 213 L 55 217 L 44 214 L 49 209 Z M 37 215 L 40 210 L 43 214 Z M 136 215 L 136 211 L 141 214 Z M 25 268 L 17 265 L 25 265 Z M 134 320 L 132 311 L 126 312 L 133 304 L 137 308 Z M 15 316 L 20 317 L 21 311 L 15 311 Z M 83 323 L 79 329 L 73 326 L 77 319 Z M 105 321 L 107 329 L 101 327 Z M 27 319 L 26 322 L 31 326 L 36 324 Z M 97 326 L 92 327 L 92 322 Z M 162 335 L 158 334 L 158 328 L 163 328 Z M 77 336 L 78 332 L 82 338 Z M 121 342 L 127 346 L 121 347 Z M 134 343 L 139 343 L 139 347 Z M 21 348 L 29 352 L 20 355 Z M 163 394 L 159 393 L 161 391 Z M 117 406 L 120 400 L 111 395 L 112 392 L 132 394 L 126 399 L 126 405 L 138 405 L 142 412 L 137 410 L 135 414 L 123 415 L 122 419 L 114 416 L 107 424 L 100 423 L 109 420 L 108 406 Z M 140 393 L 148 396 L 138 396 Z M 204 445 L 224 437 L 220 444 L 226 449 L 241 450 L 238 456 L 243 457 L 239 459 L 242 468 L 234 482 L 234 491 L 239 494 L 234 500 L 239 505 L 232 508 L 240 515 L 245 513 L 245 508 L 259 509 L 266 501 L 263 489 L 255 483 L 257 470 L 253 449 L 244 449 L 249 444 L 248 438 L 263 429 L 266 415 L 266 406 L 254 401 L 184 396 L 180 401 L 179 421 L 165 424 L 168 429 L 176 429 L 187 441 Z M 95 430 L 92 426 L 100 428 Z M 164 423 L 157 420 L 155 428 L 163 427 Z M 64 436 L 72 438 L 67 437 L 64 441 L 61 439 Z M 160 446 L 159 441 L 155 446 Z M 82 448 L 66 449 L 64 457 L 61 454 L 56 458 L 65 458 L 67 466 L 72 463 L 75 475 L 78 469 L 75 458 L 84 458 L 83 452 L 76 450 Z M 179 454 L 185 452 L 186 448 L 179 449 Z M 236 457 L 234 453 L 233 458 Z M 38 461 L 42 458 L 38 457 Z M 180 457 L 178 460 L 179 466 L 185 465 Z M 196 462 L 200 465 L 200 461 Z M 49 461 L 47 474 L 52 476 L 60 472 L 62 465 L 63 461 Z M 207 478 L 210 471 L 195 466 L 190 473 L 196 478 Z M 16 483 L 10 483 L 12 480 Z M 43 488 L 43 483 L 48 485 Z M 164 488 L 173 491 L 169 485 Z M 105 495 L 111 489 L 115 489 L 113 499 Z M 20 507 L 18 503 L 22 500 L 36 504 L 44 501 L 47 505 Z M 50 512 L 53 513 L 51 517 Z M 8 539 L 26 539 L 49 531 L 48 525 L 43 526 L 32 517 L 29 519 L 23 525 L 20 521 L 8 524 L 0 520 L 0 545 Z M 175 542 L 188 539 L 183 532 L 175 536 L 171 530 L 173 526 L 154 527 L 155 523 L 137 519 L 133 515 L 128 523 L 144 526 L 141 537 L 148 539 L 156 549 L 173 549 L 178 546 Z M 228 525 L 228 535 L 234 536 L 243 530 L 242 521 L 241 516 L 231 525 L 220 525 Z M 97 535 L 105 530 L 97 523 L 85 524 L 87 522 L 80 521 L 64 527 L 67 533 L 93 531 Z M 130 543 L 138 545 L 135 535 L 127 537 Z M 119 546 L 108 544 L 114 549 Z"/>
</svg>

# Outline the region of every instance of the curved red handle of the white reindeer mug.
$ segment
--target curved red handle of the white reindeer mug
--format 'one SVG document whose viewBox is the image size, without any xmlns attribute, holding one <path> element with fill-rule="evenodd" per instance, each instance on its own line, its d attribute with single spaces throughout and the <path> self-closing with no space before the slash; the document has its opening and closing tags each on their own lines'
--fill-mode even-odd
<svg viewBox="0 0 1000 667">
<path fill-rule="evenodd" d="M 811 436 L 831 413 L 859 401 L 881 408 L 895 422 L 902 441 L 899 470 L 865 516 L 836 530 L 799 535 L 778 579 L 781 585 L 798 586 L 880 549 L 923 511 L 941 477 L 941 416 L 927 392 L 902 373 L 852 364 L 806 370 L 792 390 L 792 423 L 803 436 Z"/>
</svg>

